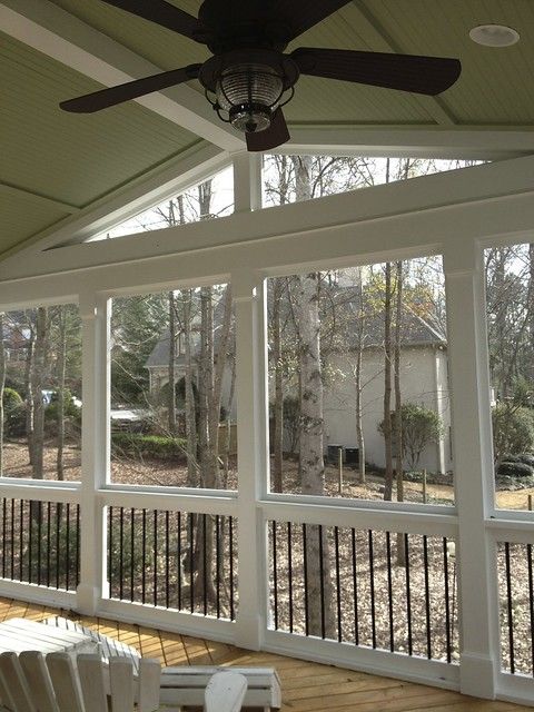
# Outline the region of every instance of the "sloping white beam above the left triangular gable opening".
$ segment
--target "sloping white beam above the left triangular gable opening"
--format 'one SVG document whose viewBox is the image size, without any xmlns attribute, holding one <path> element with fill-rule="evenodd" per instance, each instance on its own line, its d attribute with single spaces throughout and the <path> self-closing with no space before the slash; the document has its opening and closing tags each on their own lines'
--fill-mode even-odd
<svg viewBox="0 0 534 712">
<path fill-rule="evenodd" d="M 39 233 L 0 255 L 1 269 L 41 250 L 66 243 L 81 243 L 106 233 L 142 210 L 176 196 L 212 176 L 230 162 L 229 155 L 211 144 L 181 152 L 144 176 L 81 209 L 76 216 Z"/>
</svg>

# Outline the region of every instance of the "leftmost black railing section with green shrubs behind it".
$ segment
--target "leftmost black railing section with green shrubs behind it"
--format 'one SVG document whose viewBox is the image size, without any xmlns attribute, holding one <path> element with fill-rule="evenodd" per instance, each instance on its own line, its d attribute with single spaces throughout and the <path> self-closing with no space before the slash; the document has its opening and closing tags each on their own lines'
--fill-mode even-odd
<svg viewBox="0 0 534 712">
<path fill-rule="evenodd" d="M 1 577 L 73 591 L 80 578 L 77 504 L 0 498 Z"/>
</svg>

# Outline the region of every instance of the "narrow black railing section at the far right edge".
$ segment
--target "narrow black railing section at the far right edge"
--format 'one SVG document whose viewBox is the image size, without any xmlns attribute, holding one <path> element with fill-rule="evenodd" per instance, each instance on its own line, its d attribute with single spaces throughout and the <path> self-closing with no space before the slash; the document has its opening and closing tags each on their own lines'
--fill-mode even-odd
<svg viewBox="0 0 534 712">
<path fill-rule="evenodd" d="M 534 563 L 532 544 L 501 542 L 497 574 L 502 669 L 534 676 Z"/>
</svg>

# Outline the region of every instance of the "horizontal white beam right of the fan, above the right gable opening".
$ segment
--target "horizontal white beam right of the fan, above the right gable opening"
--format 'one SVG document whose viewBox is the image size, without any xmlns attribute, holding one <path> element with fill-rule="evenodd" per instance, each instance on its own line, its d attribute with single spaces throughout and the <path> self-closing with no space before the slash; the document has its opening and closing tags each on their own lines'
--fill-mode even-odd
<svg viewBox="0 0 534 712">
<path fill-rule="evenodd" d="M 502 127 L 297 126 L 291 127 L 289 142 L 273 152 L 498 160 L 534 154 L 534 131 Z"/>
</svg>

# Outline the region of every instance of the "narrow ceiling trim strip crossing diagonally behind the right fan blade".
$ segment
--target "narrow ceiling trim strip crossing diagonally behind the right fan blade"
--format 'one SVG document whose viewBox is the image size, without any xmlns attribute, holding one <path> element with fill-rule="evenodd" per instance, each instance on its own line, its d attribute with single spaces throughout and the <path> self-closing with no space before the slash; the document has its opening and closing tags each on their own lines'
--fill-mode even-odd
<svg viewBox="0 0 534 712">
<path fill-rule="evenodd" d="M 370 10 L 364 4 L 362 0 L 353 0 L 350 4 L 350 14 L 357 13 L 357 26 L 360 28 L 362 34 L 372 38 L 373 51 L 376 52 L 395 52 L 397 55 L 405 55 L 404 50 L 394 38 L 380 26 L 378 20 L 373 16 Z M 339 13 L 347 12 L 342 8 Z M 349 23 L 353 27 L 353 22 Z M 417 52 L 414 52 L 417 53 Z M 416 101 L 422 109 L 428 113 L 437 123 L 442 126 L 454 126 L 456 119 L 452 111 L 446 106 L 445 101 L 438 97 L 422 97 L 418 95 L 412 95 L 414 101 Z"/>
</svg>

